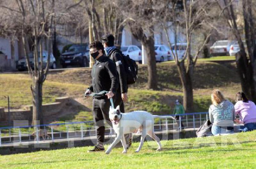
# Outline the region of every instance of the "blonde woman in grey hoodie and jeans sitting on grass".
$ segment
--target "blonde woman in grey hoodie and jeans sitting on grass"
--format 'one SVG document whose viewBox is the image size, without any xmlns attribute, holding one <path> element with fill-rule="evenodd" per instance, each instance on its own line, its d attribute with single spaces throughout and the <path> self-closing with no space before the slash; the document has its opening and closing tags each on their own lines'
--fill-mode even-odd
<svg viewBox="0 0 256 169">
<path fill-rule="evenodd" d="M 215 89 L 212 91 L 212 105 L 209 108 L 209 117 L 212 122 L 212 134 L 227 134 L 234 132 L 235 108 L 225 99 L 222 93 Z"/>
</svg>

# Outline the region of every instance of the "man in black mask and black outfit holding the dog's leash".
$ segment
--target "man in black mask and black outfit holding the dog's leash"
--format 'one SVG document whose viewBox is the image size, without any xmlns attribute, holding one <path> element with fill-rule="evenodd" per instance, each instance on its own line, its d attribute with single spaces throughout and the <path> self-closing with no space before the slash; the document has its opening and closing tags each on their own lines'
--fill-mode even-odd
<svg viewBox="0 0 256 169">
<path fill-rule="evenodd" d="M 97 127 L 97 144 L 89 152 L 104 151 L 105 126 L 104 119 L 112 127 L 109 121 L 110 100 L 118 88 L 118 77 L 115 63 L 104 54 L 104 47 L 100 41 L 90 44 L 90 54 L 96 60 L 92 67 L 92 85 L 86 90 L 85 96 L 92 92 L 99 93 L 109 91 L 107 94 L 96 95 L 93 98 L 93 116 Z M 115 100 L 115 97 L 113 98 Z"/>
</svg>

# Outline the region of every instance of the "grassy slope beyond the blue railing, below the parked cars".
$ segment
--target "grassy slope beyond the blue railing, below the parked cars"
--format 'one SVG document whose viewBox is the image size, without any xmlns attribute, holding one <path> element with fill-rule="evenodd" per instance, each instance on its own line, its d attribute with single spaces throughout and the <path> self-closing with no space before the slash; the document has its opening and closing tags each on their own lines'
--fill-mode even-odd
<svg viewBox="0 0 256 169">
<path fill-rule="evenodd" d="M 56 97 L 70 96 L 83 100 L 85 106 L 91 108 L 91 98 L 83 99 L 84 89 L 91 83 L 90 71 L 90 69 L 73 69 L 49 74 L 43 86 L 43 102 L 49 103 Z M 159 91 L 147 90 L 147 67 L 139 66 L 138 81 L 129 88 L 129 101 L 125 103 L 127 111 L 172 113 L 174 100 L 182 100 L 183 95 L 177 67 L 173 63 L 159 63 L 157 73 Z M 31 104 L 30 84 L 31 80 L 26 74 L 0 74 L 0 93 L 10 96 L 12 108 Z M 197 63 L 194 74 L 195 112 L 208 110 L 213 88 L 219 88 L 228 99 L 234 99 L 234 94 L 241 90 L 234 63 L 224 65 L 207 61 Z M 6 99 L 0 96 L 0 107 L 6 105 Z M 60 121 L 91 120 L 91 116 L 91 112 L 83 111 L 76 116 L 63 117 Z"/>
</svg>

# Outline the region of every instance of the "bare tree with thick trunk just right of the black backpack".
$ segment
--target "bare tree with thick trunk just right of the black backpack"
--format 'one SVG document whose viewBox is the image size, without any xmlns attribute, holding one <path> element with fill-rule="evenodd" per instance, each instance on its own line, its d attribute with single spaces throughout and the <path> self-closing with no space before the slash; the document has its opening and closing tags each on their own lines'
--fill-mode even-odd
<svg viewBox="0 0 256 169">
<path fill-rule="evenodd" d="M 119 13 L 123 15 L 122 26 L 128 26 L 132 35 L 145 47 L 148 62 L 149 89 L 157 89 L 156 55 L 154 48 L 154 26 L 157 21 L 158 5 L 156 1 L 115 1 Z"/>
</svg>

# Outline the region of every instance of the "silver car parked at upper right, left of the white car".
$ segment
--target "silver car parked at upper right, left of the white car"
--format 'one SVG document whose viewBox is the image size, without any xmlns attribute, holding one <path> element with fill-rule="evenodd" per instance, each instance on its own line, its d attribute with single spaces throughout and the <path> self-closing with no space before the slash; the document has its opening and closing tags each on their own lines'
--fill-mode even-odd
<svg viewBox="0 0 256 169">
<path fill-rule="evenodd" d="M 218 40 L 210 47 L 212 56 L 229 55 L 229 49 L 232 44 L 237 44 L 235 40 Z"/>
</svg>

